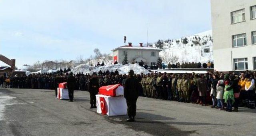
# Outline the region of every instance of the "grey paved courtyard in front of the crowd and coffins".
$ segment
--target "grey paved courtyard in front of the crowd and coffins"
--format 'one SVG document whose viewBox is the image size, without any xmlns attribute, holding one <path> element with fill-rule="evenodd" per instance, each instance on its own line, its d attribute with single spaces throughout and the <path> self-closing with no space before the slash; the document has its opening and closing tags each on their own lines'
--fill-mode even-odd
<svg viewBox="0 0 256 136">
<path fill-rule="evenodd" d="M 256 135 L 256 110 L 225 112 L 209 106 L 139 98 L 136 122 L 90 109 L 86 91 L 74 102 L 54 90 L 0 89 L 0 135 Z"/>
</svg>

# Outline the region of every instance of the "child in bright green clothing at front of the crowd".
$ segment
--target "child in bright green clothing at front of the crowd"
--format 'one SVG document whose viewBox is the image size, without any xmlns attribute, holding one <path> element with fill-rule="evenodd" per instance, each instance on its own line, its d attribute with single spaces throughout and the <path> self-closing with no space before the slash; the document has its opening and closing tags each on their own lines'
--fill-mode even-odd
<svg viewBox="0 0 256 136">
<path fill-rule="evenodd" d="M 232 112 L 232 104 L 234 103 L 234 92 L 233 89 L 227 90 L 230 87 L 229 80 L 225 80 L 225 88 L 224 88 L 224 95 L 223 98 L 225 103 L 227 104 L 227 112 Z"/>
</svg>

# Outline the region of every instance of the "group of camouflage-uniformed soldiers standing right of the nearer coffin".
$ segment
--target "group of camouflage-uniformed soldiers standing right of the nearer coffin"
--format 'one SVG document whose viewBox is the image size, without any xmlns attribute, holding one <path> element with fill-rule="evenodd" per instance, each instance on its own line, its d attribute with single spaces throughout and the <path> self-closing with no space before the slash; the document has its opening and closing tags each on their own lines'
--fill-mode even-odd
<svg viewBox="0 0 256 136">
<path fill-rule="evenodd" d="M 193 79 L 193 78 L 192 78 Z M 190 85 L 194 84 L 188 74 L 142 74 L 143 96 L 163 100 L 190 102 Z"/>
</svg>

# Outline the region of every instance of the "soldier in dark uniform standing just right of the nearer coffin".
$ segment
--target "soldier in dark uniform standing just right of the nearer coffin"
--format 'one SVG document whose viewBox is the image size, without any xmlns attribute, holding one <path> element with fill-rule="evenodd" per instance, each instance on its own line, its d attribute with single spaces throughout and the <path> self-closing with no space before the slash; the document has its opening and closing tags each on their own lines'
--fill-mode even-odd
<svg viewBox="0 0 256 136">
<path fill-rule="evenodd" d="M 124 82 L 124 98 L 127 104 L 127 113 L 129 118 L 127 122 L 134 122 L 136 115 L 136 102 L 139 96 L 139 91 L 142 89 L 142 85 L 134 77 L 134 71 L 130 70 L 129 77 Z"/>
</svg>

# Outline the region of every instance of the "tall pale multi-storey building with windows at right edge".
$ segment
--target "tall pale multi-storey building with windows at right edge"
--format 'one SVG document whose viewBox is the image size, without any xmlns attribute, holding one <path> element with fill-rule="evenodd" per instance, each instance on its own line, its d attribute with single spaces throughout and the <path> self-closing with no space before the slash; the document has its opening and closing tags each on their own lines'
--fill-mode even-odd
<svg viewBox="0 0 256 136">
<path fill-rule="evenodd" d="M 211 0 L 214 70 L 256 70 L 256 0 Z"/>
</svg>

